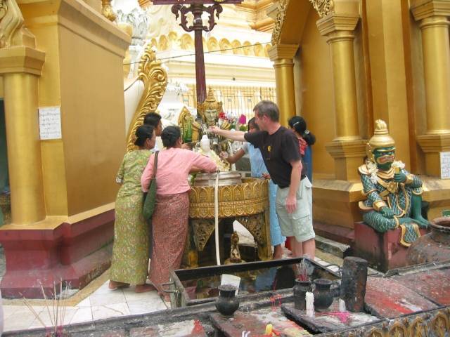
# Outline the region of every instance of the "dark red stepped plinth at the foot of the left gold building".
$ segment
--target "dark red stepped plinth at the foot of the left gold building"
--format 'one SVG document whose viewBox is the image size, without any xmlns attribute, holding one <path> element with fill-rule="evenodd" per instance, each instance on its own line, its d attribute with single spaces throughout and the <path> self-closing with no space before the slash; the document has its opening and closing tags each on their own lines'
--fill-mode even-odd
<svg viewBox="0 0 450 337">
<path fill-rule="evenodd" d="M 70 284 L 82 289 L 108 269 L 114 236 L 114 209 L 73 223 L 20 227 L 5 225 L 0 242 L 6 256 L 1 280 L 4 298 L 43 298 Z"/>
</svg>

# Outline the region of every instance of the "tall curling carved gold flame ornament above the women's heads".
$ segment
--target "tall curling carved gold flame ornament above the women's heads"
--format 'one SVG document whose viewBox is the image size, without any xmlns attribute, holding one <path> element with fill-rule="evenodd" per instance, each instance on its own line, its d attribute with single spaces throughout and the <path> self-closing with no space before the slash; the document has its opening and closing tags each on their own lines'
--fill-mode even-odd
<svg viewBox="0 0 450 337">
<path fill-rule="evenodd" d="M 149 112 L 155 112 L 166 91 L 167 72 L 161 67 L 161 61 L 156 59 L 155 51 L 150 44 L 141 58 L 138 79 L 143 81 L 144 89 L 139 105 L 134 112 L 127 136 L 127 152 L 136 148 L 134 145 L 136 129 L 143 124 L 143 119 Z"/>
</svg>

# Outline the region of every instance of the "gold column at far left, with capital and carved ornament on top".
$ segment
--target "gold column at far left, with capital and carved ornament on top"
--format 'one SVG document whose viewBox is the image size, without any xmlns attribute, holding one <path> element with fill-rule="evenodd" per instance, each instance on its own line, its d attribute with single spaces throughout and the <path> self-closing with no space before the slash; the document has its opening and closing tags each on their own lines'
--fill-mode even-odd
<svg viewBox="0 0 450 337">
<path fill-rule="evenodd" d="M 25 225 L 46 216 L 38 120 L 38 76 L 45 54 L 23 27 L 14 0 L 0 18 L 0 75 L 4 79 L 6 141 L 12 222 Z M 3 20 L 2 20 L 3 19 Z"/>
</svg>

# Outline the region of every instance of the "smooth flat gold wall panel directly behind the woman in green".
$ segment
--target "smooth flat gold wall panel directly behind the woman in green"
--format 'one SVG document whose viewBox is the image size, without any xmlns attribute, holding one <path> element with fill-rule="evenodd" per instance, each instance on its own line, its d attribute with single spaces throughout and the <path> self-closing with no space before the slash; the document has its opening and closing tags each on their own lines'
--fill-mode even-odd
<svg viewBox="0 0 450 337">
<path fill-rule="evenodd" d="M 60 27 L 69 216 L 115 200 L 125 148 L 122 59 Z"/>
</svg>

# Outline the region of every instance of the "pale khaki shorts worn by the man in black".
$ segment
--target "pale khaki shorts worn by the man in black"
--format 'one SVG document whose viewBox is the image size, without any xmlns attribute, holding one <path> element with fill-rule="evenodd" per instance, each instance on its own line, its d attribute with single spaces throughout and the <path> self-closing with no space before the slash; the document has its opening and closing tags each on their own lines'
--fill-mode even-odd
<svg viewBox="0 0 450 337">
<path fill-rule="evenodd" d="M 289 187 L 278 188 L 276 192 L 276 214 L 285 237 L 295 237 L 297 242 L 314 239 L 312 227 L 312 185 L 307 177 L 300 181 L 297 190 L 297 209 L 293 213 L 286 211 L 286 198 Z"/>
</svg>

